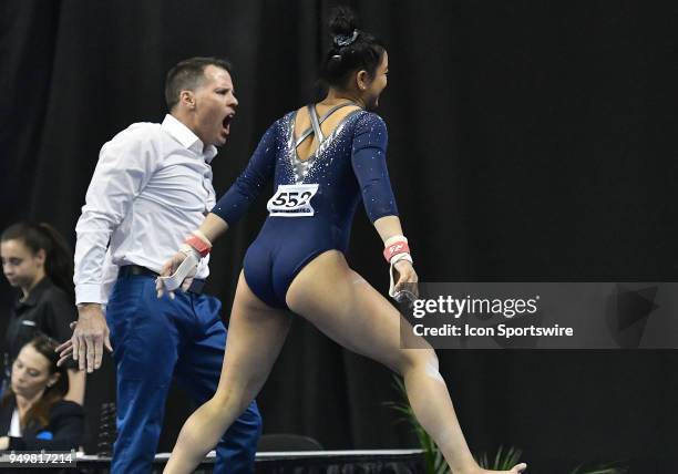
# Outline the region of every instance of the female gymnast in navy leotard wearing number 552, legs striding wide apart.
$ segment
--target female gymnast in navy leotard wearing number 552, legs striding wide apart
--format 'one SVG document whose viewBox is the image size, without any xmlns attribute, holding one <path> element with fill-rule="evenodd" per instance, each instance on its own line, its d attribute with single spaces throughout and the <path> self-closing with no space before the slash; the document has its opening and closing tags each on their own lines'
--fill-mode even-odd
<svg viewBox="0 0 678 474">
<path fill-rule="evenodd" d="M 454 474 L 490 472 L 469 451 L 433 350 L 423 341 L 428 349 L 400 347 L 400 324 L 407 322 L 345 259 L 362 198 L 394 271 L 392 295 L 417 282 L 386 166 L 387 128 L 368 112 L 387 85 L 387 51 L 356 29 L 349 10 L 335 11 L 330 30 L 333 42 L 322 65 L 327 96 L 268 128 L 245 172 L 158 278 L 158 296 L 182 280 L 185 286 L 185 269 L 207 255 L 274 177 L 269 216 L 238 280 L 217 392 L 184 424 L 165 473 L 192 472 L 261 389 L 290 326 L 286 309 L 400 373 L 418 420 Z"/>
</svg>

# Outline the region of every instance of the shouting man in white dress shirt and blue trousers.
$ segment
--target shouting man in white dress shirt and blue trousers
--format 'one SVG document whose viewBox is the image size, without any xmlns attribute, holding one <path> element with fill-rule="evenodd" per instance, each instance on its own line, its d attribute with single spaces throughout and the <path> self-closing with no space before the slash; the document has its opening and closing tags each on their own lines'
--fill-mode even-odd
<svg viewBox="0 0 678 474">
<path fill-rule="evenodd" d="M 203 403 L 215 392 L 226 330 L 220 303 L 202 295 L 207 258 L 192 287 L 156 298 L 163 264 L 214 206 L 209 163 L 226 143 L 238 101 L 227 62 L 193 58 L 167 74 L 170 114 L 136 123 L 101 150 L 75 228 L 79 319 L 62 360 L 101 365 L 103 346 L 117 370 L 117 440 L 113 473 L 150 472 L 172 377 Z M 119 268 L 106 302 L 104 257 Z M 106 326 L 107 321 L 107 326 Z M 110 341 L 109 341 L 110 328 Z M 251 404 L 217 446 L 215 472 L 251 472 L 260 416 Z"/>
</svg>

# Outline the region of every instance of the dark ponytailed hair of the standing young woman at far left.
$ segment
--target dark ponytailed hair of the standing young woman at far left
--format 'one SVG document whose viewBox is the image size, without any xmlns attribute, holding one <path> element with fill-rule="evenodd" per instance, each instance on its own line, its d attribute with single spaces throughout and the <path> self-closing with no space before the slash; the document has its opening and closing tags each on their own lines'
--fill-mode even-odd
<svg viewBox="0 0 678 474">
<path fill-rule="evenodd" d="M 73 254 L 59 231 L 45 223 L 17 223 L 2 233 L 0 240 L 21 240 L 33 255 L 44 250 L 44 271 L 52 282 L 74 300 Z"/>
</svg>

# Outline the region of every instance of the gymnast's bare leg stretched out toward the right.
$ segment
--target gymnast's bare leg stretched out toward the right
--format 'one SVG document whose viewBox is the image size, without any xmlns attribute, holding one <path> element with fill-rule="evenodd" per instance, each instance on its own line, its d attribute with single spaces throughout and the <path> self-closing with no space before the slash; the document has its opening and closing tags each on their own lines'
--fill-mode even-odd
<svg viewBox="0 0 678 474">
<path fill-rule="evenodd" d="M 322 295 L 322 298 L 318 298 Z M 356 271 L 328 251 L 309 264 L 287 292 L 296 313 L 347 349 L 383 363 L 404 378 L 417 419 L 435 440 L 454 474 L 490 473 L 477 466 L 456 420 L 432 349 L 401 349 L 402 316 Z M 420 340 L 418 347 L 428 346 Z M 518 464 L 505 473 L 520 473 Z"/>
</svg>

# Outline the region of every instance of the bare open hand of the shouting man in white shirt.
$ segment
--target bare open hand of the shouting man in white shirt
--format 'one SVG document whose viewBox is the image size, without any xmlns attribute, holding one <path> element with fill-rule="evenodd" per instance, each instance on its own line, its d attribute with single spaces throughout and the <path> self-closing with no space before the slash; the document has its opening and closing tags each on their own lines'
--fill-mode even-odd
<svg viewBox="0 0 678 474">
<path fill-rule="evenodd" d="M 93 302 L 79 305 L 78 322 L 74 324 L 71 339 L 56 348 L 59 352 L 56 365 L 73 357 L 80 370 L 92 373 L 101 367 L 104 346 L 109 352 L 113 351 L 109 340 L 109 326 L 101 305 Z"/>
</svg>

